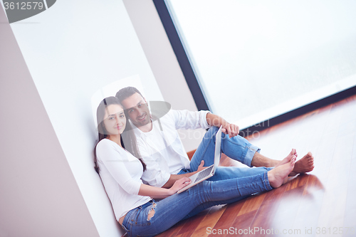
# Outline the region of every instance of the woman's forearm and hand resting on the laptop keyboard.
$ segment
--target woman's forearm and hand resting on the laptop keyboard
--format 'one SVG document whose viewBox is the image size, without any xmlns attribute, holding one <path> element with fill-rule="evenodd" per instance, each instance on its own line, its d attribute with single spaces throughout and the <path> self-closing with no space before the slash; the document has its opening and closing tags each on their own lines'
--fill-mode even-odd
<svg viewBox="0 0 356 237">
<path fill-rule="evenodd" d="M 177 193 L 179 189 L 182 189 L 184 186 L 187 186 L 191 182 L 192 181 L 189 178 L 184 177 L 182 179 L 178 179 L 177 181 L 175 181 L 170 189 L 164 189 L 164 188 L 159 188 L 157 186 L 141 184 L 138 195 L 150 196 L 152 199 L 164 199 L 167 196 L 171 196 Z"/>
</svg>

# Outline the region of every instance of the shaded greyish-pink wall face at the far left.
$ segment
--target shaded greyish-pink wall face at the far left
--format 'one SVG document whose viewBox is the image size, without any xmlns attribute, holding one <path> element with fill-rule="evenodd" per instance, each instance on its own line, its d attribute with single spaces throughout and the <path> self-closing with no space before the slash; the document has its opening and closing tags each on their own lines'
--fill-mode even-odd
<svg viewBox="0 0 356 237">
<path fill-rule="evenodd" d="M 99 236 L 6 22 L 0 7 L 0 236 Z"/>
</svg>

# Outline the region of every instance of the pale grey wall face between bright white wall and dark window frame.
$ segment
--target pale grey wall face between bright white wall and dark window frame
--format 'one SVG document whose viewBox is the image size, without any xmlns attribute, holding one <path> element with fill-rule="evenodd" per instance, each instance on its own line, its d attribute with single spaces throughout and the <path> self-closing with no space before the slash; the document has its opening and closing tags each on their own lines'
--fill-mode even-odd
<svg viewBox="0 0 356 237">
<path fill-rule="evenodd" d="M 192 93 L 152 0 L 123 0 L 165 101 L 175 110 L 197 111 Z M 204 130 L 180 130 L 187 152 L 197 149 Z"/>
</svg>

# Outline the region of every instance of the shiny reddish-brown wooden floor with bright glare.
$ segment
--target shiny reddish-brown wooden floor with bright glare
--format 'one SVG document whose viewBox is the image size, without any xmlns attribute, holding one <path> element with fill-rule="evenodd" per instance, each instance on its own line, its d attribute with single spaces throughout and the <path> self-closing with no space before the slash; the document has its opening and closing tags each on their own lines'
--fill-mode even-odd
<svg viewBox="0 0 356 237">
<path fill-rule="evenodd" d="M 247 138 L 273 159 L 292 148 L 298 158 L 310 151 L 315 169 L 278 189 L 208 209 L 159 237 L 356 236 L 356 95 Z M 220 165 L 240 164 L 223 155 Z"/>
</svg>

